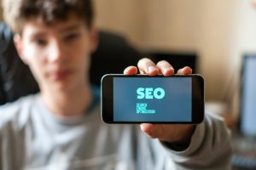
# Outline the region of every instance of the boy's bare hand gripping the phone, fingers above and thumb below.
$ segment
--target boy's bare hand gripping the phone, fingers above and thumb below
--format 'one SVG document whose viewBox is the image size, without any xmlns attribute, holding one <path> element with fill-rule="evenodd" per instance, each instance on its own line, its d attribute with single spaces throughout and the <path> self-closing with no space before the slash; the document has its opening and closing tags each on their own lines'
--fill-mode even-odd
<svg viewBox="0 0 256 170">
<path fill-rule="evenodd" d="M 140 74 L 155 76 L 162 74 L 166 77 L 174 75 L 174 69 L 167 61 L 161 60 L 156 65 L 150 59 L 140 59 L 138 64 Z M 177 71 L 177 74 L 188 75 L 192 70 L 186 66 Z M 137 74 L 136 66 L 129 66 L 124 71 L 125 75 Z M 178 124 L 151 124 L 142 123 L 141 129 L 152 139 L 160 139 L 163 142 L 171 143 L 177 146 L 188 146 L 191 136 L 195 130 L 195 125 L 178 125 Z"/>
</svg>

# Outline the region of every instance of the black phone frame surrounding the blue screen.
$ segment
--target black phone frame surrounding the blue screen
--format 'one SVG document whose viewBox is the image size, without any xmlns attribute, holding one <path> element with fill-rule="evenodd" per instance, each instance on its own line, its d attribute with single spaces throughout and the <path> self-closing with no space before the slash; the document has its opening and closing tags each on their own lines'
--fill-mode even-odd
<svg viewBox="0 0 256 170">
<path fill-rule="evenodd" d="M 149 77 L 147 75 L 107 74 L 102 77 L 101 81 L 101 116 L 102 121 L 106 123 L 146 123 L 146 122 L 114 122 L 113 121 L 113 78 L 114 77 Z M 161 75 L 155 77 L 164 77 Z M 198 74 L 190 75 L 173 75 L 172 77 L 191 77 L 192 78 L 192 121 L 191 122 L 147 122 L 162 124 L 198 124 L 204 119 L 205 113 L 205 86 L 204 78 Z M 166 78 L 172 78 L 166 77 Z"/>
</svg>

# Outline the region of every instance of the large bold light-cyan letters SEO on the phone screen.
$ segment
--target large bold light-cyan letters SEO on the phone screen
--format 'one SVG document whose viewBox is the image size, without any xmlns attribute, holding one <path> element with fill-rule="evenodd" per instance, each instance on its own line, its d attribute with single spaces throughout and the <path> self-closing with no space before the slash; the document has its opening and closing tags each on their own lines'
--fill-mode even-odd
<svg viewBox="0 0 256 170">
<path fill-rule="evenodd" d="M 137 88 L 137 99 L 163 99 L 165 95 L 163 88 Z"/>
</svg>

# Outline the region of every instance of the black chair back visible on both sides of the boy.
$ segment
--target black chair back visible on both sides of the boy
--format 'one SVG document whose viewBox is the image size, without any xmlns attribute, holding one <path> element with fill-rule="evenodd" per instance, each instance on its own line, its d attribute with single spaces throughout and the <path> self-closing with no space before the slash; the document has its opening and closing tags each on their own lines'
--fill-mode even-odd
<svg viewBox="0 0 256 170">
<path fill-rule="evenodd" d="M 125 38 L 107 31 L 99 32 L 99 46 L 91 55 L 90 81 L 100 85 L 107 73 L 122 73 L 137 65 L 139 52 Z M 9 27 L 0 23 L 0 105 L 39 91 L 32 72 L 19 58 Z"/>
</svg>

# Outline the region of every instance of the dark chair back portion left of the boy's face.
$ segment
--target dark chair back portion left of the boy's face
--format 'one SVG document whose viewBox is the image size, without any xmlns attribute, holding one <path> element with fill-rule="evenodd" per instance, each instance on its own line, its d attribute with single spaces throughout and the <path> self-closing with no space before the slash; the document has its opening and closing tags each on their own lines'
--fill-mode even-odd
<svg viewBox="0 0 256 170">
<path fill-rule="evenodd" d="M 3 23 L 0 24 L 0 47 L 0 105 L 38 92 L 31 71 L 18 57 L 12 32 Z"/>
</svg>

